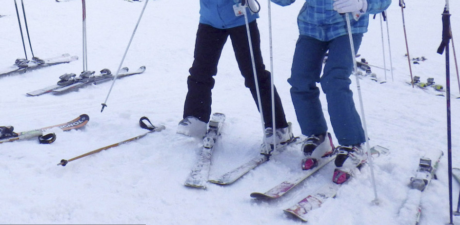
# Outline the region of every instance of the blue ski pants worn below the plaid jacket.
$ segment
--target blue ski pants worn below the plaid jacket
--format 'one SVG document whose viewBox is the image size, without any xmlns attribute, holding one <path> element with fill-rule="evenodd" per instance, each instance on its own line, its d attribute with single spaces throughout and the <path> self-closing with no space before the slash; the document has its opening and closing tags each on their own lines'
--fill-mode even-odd
<svg viewBox="0 0 460 225">
<path fill-rule="evenodd" d="M 362 34 L 354 34 L 355 52 L 358 52 Z M 329 51 L 324 73 L 321 75 L 323 59 Z M 327 132 L 327 124 L 320 102 L 321 84 L 326 94 L 327 109 L 332 128 L 340 145 L 356 145 L 365 142 L 360 115 L 356 111 L 349 76 L 353 71 L 348 35 L 330 41 L 320 41 L 305 35 L 297 40 L 292 62 L 291 98 L 296 110 L 302 134 Z"/>
</svg>

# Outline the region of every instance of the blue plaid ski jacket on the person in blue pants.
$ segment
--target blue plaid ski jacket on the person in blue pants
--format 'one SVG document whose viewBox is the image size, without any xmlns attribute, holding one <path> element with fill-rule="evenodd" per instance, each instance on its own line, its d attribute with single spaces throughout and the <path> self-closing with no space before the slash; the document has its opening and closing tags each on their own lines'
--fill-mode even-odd
<svg viewBox="0 0 460 225">
<path fill-rule="evenodd" d="M 286 6 L 296 0 L 271 0 L 272 2 Z M 334 0 L 305 0 L 302 9 L 300 9 L 297 23 L 299 25 L 300 35 L 310 36 L 321 41 L 331 39 L 347 34 L 346 20 L 333 9 Z M 353 34 L 362 34 L 367 32 L 369 24 L 369 14 L 378 14 L 390 6 L 391 0 L 367 0 L 367 9 L 360 19 L 356 21 L 350 15 L 350 22 Z"/>
</svg>

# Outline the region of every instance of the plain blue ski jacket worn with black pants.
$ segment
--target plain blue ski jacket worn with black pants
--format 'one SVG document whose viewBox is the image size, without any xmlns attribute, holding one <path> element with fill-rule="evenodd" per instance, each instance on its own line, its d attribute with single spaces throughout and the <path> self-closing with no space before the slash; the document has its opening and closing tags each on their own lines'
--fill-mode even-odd
<svg viewBox="0 0 460 225">
<path fill-rule="evenodd" d="M 200 23 L 218 29 L 228 29 L 244 25 L 244 15 L 236 16 L 233 6 L 241 0 L 200 0 Z M 247 10 L 249 12 L 249 9 Z M 248 21 L 252 22 L 259 15 L 248 13 Z"/>
</svg>

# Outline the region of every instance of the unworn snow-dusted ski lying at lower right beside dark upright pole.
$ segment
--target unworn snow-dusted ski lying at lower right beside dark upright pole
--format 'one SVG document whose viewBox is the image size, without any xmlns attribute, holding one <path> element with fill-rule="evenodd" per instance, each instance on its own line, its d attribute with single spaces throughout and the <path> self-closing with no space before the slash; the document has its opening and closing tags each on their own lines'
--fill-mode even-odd
<svg viewBox="0 0 460 225">
<path fill-rule="evenodd" d="M 440 159 L 444 153 L 439 151 L 437 156 L 433 159 L 428 157 L 420 158 L 419 168 L 414 177 L 411 177 L 409 187 L 411 188 L 407 193 L 407 198 L 400 208 L 399 218 L 403 224 L 418 225 L 421 215 L 421 193 L 430 184 L 432 179 L 436 179 L 436 169 Z"/>
</svg>

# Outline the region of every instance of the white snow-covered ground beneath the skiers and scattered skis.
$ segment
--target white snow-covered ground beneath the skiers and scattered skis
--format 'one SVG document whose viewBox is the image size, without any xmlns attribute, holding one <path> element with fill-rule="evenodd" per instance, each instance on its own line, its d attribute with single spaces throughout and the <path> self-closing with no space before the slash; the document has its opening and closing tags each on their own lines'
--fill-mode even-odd
<svg viewBox="0 0 460 225">
<path fill-rule="evenodd" d="M 86 26 L 88 69 L 97 73 L 119 64 L 144 2 L 88 0 Z M 443 0 L 406 0 L 405 27 L 411 57 L 428 60 L 412 64 L 413 75 L 422 80 L 434 77 L 445 86 L 445 55 L 436 53 L 441 41 Z M 262 7 L 259 28 L 262 52 L 269 68 L 268 13 Z M 290 100 L 290 67 L 298 37 L 297 14 L 303 4 L 271 4 L 275 84 L 293 131 L 300 128 Z M 19 5 L 20 6 L 20 5 Z M 193 61 L 199 1 L 156 0 L 147 5 L 123 66 L 147 70 L 118 80 L 100 112 L 109 83 L 88 86 L 63 95 L 26 93 L 54 84 L 64 73 L 82 70 L 81 2 L 71 0 L 24 0 L 29 33 L 35 56 L 42 58 L 64 53 L 79 60 L 34 72 L 0 78 L 0 125 L 27 131 L 69 121 L 80 114 L 90 116 L 84 129 L 56 131 L 51 145 L 27 140 L 0 145 L 1 224 L 301 224 L 283 213 L 332 177 L 326 167 L 290 193 L 275 201 L 256 201 L 249 194 L 266 191 L 300 170 L 300 146 L 249 172 L 235 184 L 209 184 L 206 190 L 184 187 L 183 183 L 197 159 L 201 140 L 176 134 L 187 92 L 186 78 Z M 460 4 L 450 2 L 454 39 L 460 35 Z M 371 145 L 391 150 L 376 158 L 375 176 L 381 204 L 371 203 L 374 192 L 369 167 L 340 188 L 336 198 L 311 213 L 311 225 L 399 225 L 399 210 L 405 202 L 407 186 L 419 158 L 445 152 L 438 180 L 422 195 L 420 225 L 449 221 L 447 175 L 446 97 L 426 93 L 406 84 L 409 66 L 397 1 L 387 10 L 393 75 L 386 73 L 385 84 L 360 80 L 364 111 Z M 13 1 L 2 2 L 0 15 L 0 68 L 23 57 L 18 20 Z M 22 17 L 21 17 L 22 20 Z M 386 23 L 383 22 L 386 65 L 389 68 Z M 359 54 L 369 64 L 383 66 L 380 16 L 370 20 Z M 26 42 L 27 44 L 27 42 Z M 29 52 L 30 57 L 30 52 Z M 451 58 L 452 48 L 451 48 Z M 380 79 L 383 70 L 374 68 Z M 355 77 L 352 90 L 358 104 Z M 393 81 L 394 80 L 394 81 Z M 451 61 L 453 166 L 460 167 L 460 99 L 458 80 Z M 244 87 L 230 40 L 222 53 L 213 90 L 213 112 L 226 114 L 222 136 L 214 151 L 210 178 L 215 178 L 259 154 L 262 132 L 260 115 L 249 90 Z M 321 94 L 321 100 L 325 97 Z M 324 112 L 327 112 L 323 104 Z M 360 109 L 358 108 L 360 112 Z M 327 113 L 326 113 L 327 114 Z M 73 162 L 70 159 L 146 132 L 138 125 L 147 116 L 166 130 L 136 142 L 102 151 Z M 332 131 L 332 129 L 331 129 Z M 335 141 L 335 144 L 337 142 Z M 454 206 L 459 185 L 454 181 Z M 403 215 L 404 216 L 404 215 Z M 455 217 L 454 222 L 460 223 Z"/>
</svg>

